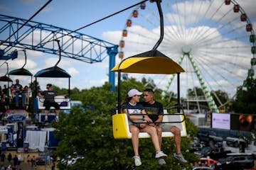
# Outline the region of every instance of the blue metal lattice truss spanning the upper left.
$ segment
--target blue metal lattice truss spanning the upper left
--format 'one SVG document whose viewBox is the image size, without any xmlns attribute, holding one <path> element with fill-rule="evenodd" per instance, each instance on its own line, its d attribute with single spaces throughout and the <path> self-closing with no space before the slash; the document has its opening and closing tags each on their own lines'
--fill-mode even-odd
<svg viewBox="0 0 256 170">
<path fill-rule="evenodd" d="M 105 40 L 73 30 L 34 21 L 26 22 L 26 19 L 0 15 L 0 49 L 5 54 L 15 47 L 59 55 L 58 45 L 55 42 L 58 38 L 62 57 L 95 63 L 102 62 L 108 56 L 108 49 L 118 47 Z M 26 24 L 23 26 L 24 23 Z M 18 30 L 21 26 L 23 27 Z"/>
</svg>

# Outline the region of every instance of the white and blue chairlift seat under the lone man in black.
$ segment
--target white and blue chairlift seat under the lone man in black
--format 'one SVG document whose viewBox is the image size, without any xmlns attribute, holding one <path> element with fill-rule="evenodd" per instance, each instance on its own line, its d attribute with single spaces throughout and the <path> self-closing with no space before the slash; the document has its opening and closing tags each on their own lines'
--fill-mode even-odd
<svg viewBox="0 0 256 170">
<path fill-rule="evenodd" d="M 43 106 L 44 98 L 36 97 L 38 102 L 38 109 L 39 110 L 45 110 L 46 107 Z M 70 109 L 70 98 L 65 98 L 64 96 L 55 96 L 54 100 L 56 103 L 60 105 L 60 110 Z M 62 105 L 62 103 L 65 103 L 65 105 Z M 50 109 L 55 109 L 54 107 L 50 107 Z"/>
</svg>

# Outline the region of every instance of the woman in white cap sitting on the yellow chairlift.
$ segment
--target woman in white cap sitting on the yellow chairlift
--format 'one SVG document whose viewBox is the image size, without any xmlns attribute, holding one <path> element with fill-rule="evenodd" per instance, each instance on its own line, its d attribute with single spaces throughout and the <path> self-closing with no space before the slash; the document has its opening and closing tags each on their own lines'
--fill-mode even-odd
<svg viewBox="0 0 256 170">
<path fill-rule="evenodd" d="M 142 92 L 137 89 L 131 89 L 122 104 L 122 111 L 126 113 L 129 118 L 129 130 L 132 133 L 132 146 L 134 148 L 134 157 L 132 158 L 134 159 L 135 166 L 142 164 L 139 157 L 139 132 L 147 132 L 151 135 L 151 140 L 156 149 L 156 159 L 167 157 L 167 155 L 160 150 L 156 128 L 147 125 L 147 123 L 152 123 L 152 120 L 146 115 L 142 104 L 138 103 L 140 95 L 142 95 Z"/>
</svg>

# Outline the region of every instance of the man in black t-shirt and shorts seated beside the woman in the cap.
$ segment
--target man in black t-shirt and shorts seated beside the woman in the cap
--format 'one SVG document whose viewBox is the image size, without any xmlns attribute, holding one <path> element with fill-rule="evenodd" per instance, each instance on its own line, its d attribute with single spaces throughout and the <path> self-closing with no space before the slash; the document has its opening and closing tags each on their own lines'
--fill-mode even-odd
<svg viewBox="0 0 256 170">
<path fill-rule="evenodd" d="M 154 100 L 154 91 L 152 89 L 145 89 L 143 91 L 144 95 L 144 102 L 142 105 L 144 109 L 149 115 L 149 118 L 153 121 L 153 123 L 149 124 L 156 128 L 156 132 L 159 138 L 159 146 L 161 148 L 161 122 L 163 121 L 163 114 L 164 108 L 162 103 Z M 187 163 L 186 159 L 184 159 L 183 155 L 181 154 L 181 130 L 176 126 L 171 126 L 170 131 L 174 134 L 174 142 L 176 145 L 176 153 L 174 154 L 174 158 L 180 163 Z M 159 164 L 166 164 L 164 159 L 158 159 Z"/>
</svg>

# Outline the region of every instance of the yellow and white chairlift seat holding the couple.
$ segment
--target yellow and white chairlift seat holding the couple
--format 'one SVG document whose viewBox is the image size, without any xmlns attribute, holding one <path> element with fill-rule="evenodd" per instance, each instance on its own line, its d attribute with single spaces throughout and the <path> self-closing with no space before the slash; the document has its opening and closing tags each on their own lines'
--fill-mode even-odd
<svg viewBox="0 0 256 170">
<path fill-rule="evenodd" d="M 168 114 L 166 110 L 164 110 L 164 114 Z M 181 136 L 186 136 L 186 125 L 185 121 L 183 121 L 183 115 L 164 115 L 163 123 L 161 123 L 162 127 L 162 137 L 174 137 L 174 134 L 170 132 L 171 125 L 175 125 L 181 129 Z M 119 113 L 112 116 L 113 122 L 113 134 L 114 139 L 131 139 L 132 133 L 129 131 L 129 124 L 127 114 Z M 178 123 L 164 123 L 164 122 L 178 122 Z M 139 132 L 139 138 L 149 138 L 151 137 L 147 132 Z"/>
</svg>

